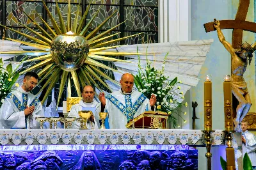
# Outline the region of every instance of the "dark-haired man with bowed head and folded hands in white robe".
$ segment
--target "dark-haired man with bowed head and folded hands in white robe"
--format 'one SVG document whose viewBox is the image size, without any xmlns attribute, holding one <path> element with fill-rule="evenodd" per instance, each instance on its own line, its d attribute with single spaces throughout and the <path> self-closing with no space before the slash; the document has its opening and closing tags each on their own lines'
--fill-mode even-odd
<svg viewBox="0 0 256 170">
<path fill-rule="evenodd" d="M 0 109 L 1 128 L 39 128 L 36 117 L 44 117 L 42 105 L 35 95 L 30 93 L 37 85 L 38 75 L 27 72 L 23 84 L 5 98 Z"/>
</svg>

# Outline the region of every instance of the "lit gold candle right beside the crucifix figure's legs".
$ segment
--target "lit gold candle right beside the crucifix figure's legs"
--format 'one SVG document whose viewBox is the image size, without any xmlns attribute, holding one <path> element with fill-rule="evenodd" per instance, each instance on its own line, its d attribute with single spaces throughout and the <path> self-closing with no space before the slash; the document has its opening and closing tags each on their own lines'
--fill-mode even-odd
<svg viewBox="0 0 256 170">
<path fill-rule="evenodd" d="M 224 92 L 224 114 L 225 114 L 225 130 L 234 130 L 233 112 L 232 112 L 232 91 L 231 77 L 225 75 L 223 77 L 223 92 Z"/>
</svg>

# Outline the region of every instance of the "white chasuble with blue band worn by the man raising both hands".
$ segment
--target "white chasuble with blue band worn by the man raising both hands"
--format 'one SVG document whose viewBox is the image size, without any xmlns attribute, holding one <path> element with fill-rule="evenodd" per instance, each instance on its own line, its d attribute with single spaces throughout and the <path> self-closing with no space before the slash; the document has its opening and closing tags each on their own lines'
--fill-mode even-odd
<svg viewBox="0 0 256 170">
<path fill-rule="evenodd" d="M 105 112 L 109 128 L 125 129 L 125 125 L 145 111 L 151 111 L 148 98 L 139 91 L 122 93 L 121 89 L 106 95 Z"/>
</svg>

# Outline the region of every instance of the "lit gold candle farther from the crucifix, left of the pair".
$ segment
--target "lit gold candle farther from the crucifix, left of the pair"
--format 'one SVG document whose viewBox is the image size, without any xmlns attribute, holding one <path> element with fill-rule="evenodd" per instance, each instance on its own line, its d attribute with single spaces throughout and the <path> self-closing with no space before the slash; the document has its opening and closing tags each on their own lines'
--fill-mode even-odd
<svg viewBox="0 0 256 170">
<path fill-rule="evenodd" d="M 204 82 L 204 130 L 212 130 L 212 82 L 211 75 Z"/>
</svg>

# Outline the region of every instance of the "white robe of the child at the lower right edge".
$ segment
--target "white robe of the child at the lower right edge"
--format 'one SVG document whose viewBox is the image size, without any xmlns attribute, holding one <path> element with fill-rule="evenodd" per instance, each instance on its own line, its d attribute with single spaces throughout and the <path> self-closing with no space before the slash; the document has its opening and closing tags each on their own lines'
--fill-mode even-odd
<svg viewBox="0 0 256 170">
<path fill-rule="evenodd" d="M 247 152 L 252 162 L 252 166 L 256 166 L 256 136 L 251 132 L 248 132 L 248 130 L 242 132 L 242 135 L 246 141 L 245 144 L 242 143 L 243 155 Z"/>
</svg>

